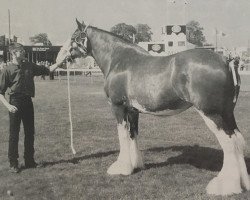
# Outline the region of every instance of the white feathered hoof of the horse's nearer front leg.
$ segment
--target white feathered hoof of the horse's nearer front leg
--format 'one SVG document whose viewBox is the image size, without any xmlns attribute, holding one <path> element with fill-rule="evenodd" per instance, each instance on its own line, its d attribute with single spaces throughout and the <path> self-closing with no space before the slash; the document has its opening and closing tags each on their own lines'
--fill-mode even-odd
<svg viewBox="0 0 250 200">
<path fill-rule="evenodd" d="M 114 162 L 108 169 L 107 173 L 110 175 L 130 175 L 133 173 L 131 163 L 124 163 L 121 161 Z"/>
</svg>

